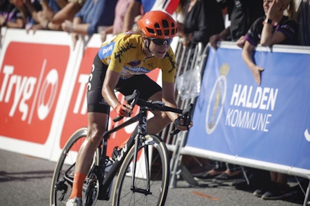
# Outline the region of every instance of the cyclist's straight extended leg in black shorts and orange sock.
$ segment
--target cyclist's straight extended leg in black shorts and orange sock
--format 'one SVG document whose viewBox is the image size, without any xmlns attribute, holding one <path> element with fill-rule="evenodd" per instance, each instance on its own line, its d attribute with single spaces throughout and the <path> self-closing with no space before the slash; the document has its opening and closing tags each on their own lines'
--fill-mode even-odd
<svg viewBox="0 0 310 206">
<path fill-rule="evenodd" d="M 107 128 L 108 114 L 110 106 L 105 102 L 101 95 L 103 76 L 107 66 L 103 65 L 99 56 L 94 58 L 92 65 L 92 78 L 87 84 L 87 137 L 81 146 L 76 158 L 74 183 L 70 198 L 81 198 L 82 187 L 85 176 L 90 170 L 92 158 L 97 146 Z"/>
</svg>

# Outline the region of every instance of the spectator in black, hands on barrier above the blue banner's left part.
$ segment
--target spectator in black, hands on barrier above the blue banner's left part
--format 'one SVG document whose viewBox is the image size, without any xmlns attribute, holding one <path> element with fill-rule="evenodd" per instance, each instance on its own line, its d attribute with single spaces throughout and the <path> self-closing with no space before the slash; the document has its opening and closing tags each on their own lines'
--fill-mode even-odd
<svg viewBox="0 0 310 206">
<path fill-rule="evenodd" d="M 264 15 L 262 0 L 228 0 L 224 2 L 221 5 L 227 9 L 230 25 L 220 33 L 212 35 L 209 39 L 210 45 L 217 49 L 216 43 L 218 41 L 236 41 L 239 47 L 243 47 L 245 43 L 243 36 L 251 24 Z"/>
</svg>

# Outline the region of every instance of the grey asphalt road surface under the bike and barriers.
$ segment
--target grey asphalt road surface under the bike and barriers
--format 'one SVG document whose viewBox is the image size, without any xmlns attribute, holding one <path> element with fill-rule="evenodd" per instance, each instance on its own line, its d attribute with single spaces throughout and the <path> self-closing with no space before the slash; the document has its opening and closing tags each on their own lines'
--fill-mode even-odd
<svg viewBox="0 0 310 206">
<path fill-rule="evenodd" d="M 0 205 L 49 205 L 50 182 L 55 163 L 0 150 Z M 178 181 L 170 188 L 166 205 L 302 205 L 303 198 L 264 201 L 251 191 L 236 190 L 231 184 L 190 187 Z M 107 201 L 104 205 L 111 205 Z"/>
</svg>

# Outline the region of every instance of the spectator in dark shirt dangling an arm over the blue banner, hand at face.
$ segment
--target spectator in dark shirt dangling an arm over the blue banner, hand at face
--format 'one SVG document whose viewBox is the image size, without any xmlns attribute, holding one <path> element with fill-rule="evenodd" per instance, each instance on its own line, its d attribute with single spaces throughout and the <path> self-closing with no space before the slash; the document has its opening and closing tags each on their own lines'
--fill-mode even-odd
<svg viewBox="0 0 310 206">
<path fill-rule="evenodd" d="M 268 0 L 264 1 L 265 16 L 257 19 L 247 35 L 246 43 L 242 49 L 242 58 L 251 70 L 254 80 L 258 85 L 261 83 L 260 73 L 264 69 L 255 65 L 251 53 L 256 45 L 270 46 L 273 44 L 297 44 L 298 25 L 296 19 L 296 6 L 293 0 Z M 284 16 L 283 12 L 288 8 L 289 16 Z M 280 12 L 276 12 L 280 9 Z M 261 35 L 261 36 L 260 36 Z"/>
</svg>

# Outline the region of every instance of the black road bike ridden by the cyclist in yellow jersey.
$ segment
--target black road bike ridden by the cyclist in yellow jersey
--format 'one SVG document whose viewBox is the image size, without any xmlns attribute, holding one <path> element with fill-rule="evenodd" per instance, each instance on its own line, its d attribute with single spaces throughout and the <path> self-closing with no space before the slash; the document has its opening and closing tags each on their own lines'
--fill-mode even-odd
<svg viewBox="0 0 310 206">
<path fill-rule="evenodd" d="M 138 114 L 103 135 L 83 184 L 83 205 L 103 205 L 104 201 L 110 200 L 111 193 L 112 205 L 165 205 L 170 176 L 169 153 L 163 139 L 147 133 L 147 111 L 178 113 L 189 126 L 194 106 L 189 104 L 188 108 L 181 110 L 165 106 L 164 102 L 141 100 L 138 95 L 139 92 L 134 91 L 125 97 L 132 108 L 135 105 L 140 107 Z M 120 119 L 116 117 L 113 120 L 117 122 Z M 114 159 L 108 157 L 107 140 L 110 135 L 134 122 L 138 122 L 136 132 L 121 150 L 116 150 Z M 170 135 L 178 132 L 174 130 Z M 77 152 L 86 135 L 87 128 L 80 128 L 65 144 L 52 177 L 50 205 L 65 205 L 68 201 Z"/>
</svg>

